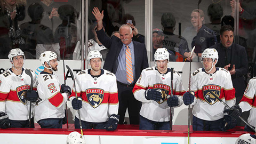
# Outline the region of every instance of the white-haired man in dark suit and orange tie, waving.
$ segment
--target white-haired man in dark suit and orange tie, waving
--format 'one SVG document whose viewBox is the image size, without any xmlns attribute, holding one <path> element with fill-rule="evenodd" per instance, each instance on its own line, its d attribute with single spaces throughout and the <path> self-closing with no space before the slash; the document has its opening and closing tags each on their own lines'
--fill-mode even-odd
<svg viewBox="0 0 256 144">
<path fill-rule="evenodd" d="M 148 67 L 146 46 L 145 44 L 132 41 L 133 33 L 129 25 L 122 25 L 119 28 L 121 39 L 116 36 L 110 39 L 103 30 L 103 11 L 100 12 L 98 7 L 94 7 L 92 13 L 98 21 L 98 38 L 109 49 L 103 68 L 114 73 L 117 78 L 118 115 L 120 115 L 118 124 L 124 124 L 124 116 L 127 108 L 130 124 L 139 124 L 141 102 L 134 98 L 132 89 L 135 82 L 139 79 L 142 69 Z M 130 62 L 126 62 L 126 60 Z M 126 63 L 131 63 L 132 66 L 129 65 L 130 69 L 126 70 Z"/>
</svg>

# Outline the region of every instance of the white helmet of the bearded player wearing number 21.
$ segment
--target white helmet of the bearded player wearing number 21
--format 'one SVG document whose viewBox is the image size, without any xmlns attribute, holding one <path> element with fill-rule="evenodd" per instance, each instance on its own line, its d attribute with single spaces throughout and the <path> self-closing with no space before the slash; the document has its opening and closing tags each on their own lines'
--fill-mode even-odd
<svg viewBox="0 0 256 144">
<path fill-rule="evenodd" d="M 58 57 L 57 57 L 57 54 L 55 52 L 45 51 L 45 52 L 40 54 L 39 60 L 45 68 L 47 68 L 47 67 L 44 65 L 44 62 L 46 62 L 50 66 L 50 68 L 47 68 L 47 69 L 52 70 L 52 66 L 50 65 L 50 60 L 53 60 L 53 59 L 56 59 L 56 58 L 58 58 Z"/>
</svg>

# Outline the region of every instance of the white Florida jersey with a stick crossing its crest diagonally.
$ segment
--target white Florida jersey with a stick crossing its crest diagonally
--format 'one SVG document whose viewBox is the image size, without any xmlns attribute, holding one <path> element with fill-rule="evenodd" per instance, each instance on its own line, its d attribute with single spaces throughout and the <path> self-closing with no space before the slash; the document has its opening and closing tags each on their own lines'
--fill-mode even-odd
<svg viewBox="0 0 256 144">
<path fill-rule="evenodd" d="M 215 73 L 207 74 L 204 68 L 191 74 L 191 91 L 195 92 L 192 113 L 195 117 L 206 121 L 216 121 L 223 117 L 225 106 L 208 90 L 217 95 L 228 106 L 235 105 L 235 89 L 229 71 L 216 68 Z"/>
</svg>

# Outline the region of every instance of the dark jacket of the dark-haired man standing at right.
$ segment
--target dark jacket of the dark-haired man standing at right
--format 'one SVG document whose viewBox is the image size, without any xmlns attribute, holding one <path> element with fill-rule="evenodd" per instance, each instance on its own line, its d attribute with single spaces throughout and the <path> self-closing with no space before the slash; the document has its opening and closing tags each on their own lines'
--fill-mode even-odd
<svg viewBox="0 0 256 144">
<path fill-rule="evenodd" d="M 216 67 L 223 68 L 225 66 L 225 51 L 222 48 L 222 44 L 215 44 L 211 46 L 211 48 L 214 48 L 218 51 L 219 60 L 216 64 Z M 236 89 L 236 103 L 238 103 L 243 97 L 243 93 L 246 87 L 246 82 L 243 76 L 248 72 L 248 60 L 245 47 L 234 43 L 231 45 L 231 63 L 229 70 L 233 68 L 233 65 L 235 65 L 236 74 L 231 75 L 231 78 L 233 86 Z"/>
</svg>

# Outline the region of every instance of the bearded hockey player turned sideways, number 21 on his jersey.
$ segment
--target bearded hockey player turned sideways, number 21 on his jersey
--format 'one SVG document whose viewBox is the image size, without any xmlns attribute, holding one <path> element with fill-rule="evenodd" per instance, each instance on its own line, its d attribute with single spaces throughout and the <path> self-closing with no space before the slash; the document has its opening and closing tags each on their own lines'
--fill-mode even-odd
<svg viewBox="0 0 256 144">
<path fill-rule="evenodd" d="M 44 70 L 38 75 L 37 91 L 39 102 L 35 106 L 35 119 L 42 128 L 62 128 L 65 103 L 71 94 L 69 86 L 62 84 L 53 71 L 57 71 L 57 54 L 51 51 L 41 53 L 40 62 Z"/>
</svg>

